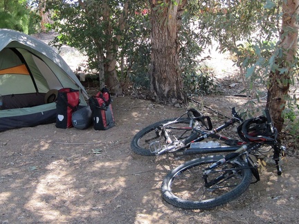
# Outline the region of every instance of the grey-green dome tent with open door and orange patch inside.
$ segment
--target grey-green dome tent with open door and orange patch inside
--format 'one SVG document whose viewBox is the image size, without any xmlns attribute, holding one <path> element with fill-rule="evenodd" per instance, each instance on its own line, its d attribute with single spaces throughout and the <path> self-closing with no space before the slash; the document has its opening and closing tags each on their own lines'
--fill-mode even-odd
<svg viewBox="0 0 299 224">
<path fill-rule="evenodd" d="M 64 59 L 44 42 L 14 30 L 0 29 L 0 131 L 55 122 L 53 90 L 80 90 L 80 106 L 89 98 Z"/>
</svg>

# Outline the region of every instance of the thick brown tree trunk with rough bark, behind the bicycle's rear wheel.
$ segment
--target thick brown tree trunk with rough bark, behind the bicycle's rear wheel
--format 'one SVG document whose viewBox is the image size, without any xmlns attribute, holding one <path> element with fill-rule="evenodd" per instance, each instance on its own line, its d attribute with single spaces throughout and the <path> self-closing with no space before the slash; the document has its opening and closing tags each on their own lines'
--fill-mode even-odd
<svg viewBox="0 0 299 224">
<path fill-rule="evenodd" d="M 183 7 L 186 1 L 149 0 L 151 10 L 151 42 L 152 42 L 152 70 L 151 94 L 153 100 L 174 104 L 185 102 L 183 93 L 183 79 L 179 68 L 179 39 Z"/>
</svg>

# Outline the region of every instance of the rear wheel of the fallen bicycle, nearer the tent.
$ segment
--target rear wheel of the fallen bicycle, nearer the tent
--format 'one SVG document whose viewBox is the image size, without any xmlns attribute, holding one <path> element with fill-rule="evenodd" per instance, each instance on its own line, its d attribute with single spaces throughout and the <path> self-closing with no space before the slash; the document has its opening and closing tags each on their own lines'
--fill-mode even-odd
<svg viewBox="0 0 299 224">
<path fill-rule="evenodd" d="M 131 149 L 141 156 L 155 156 L 155 153 L 149 151 L 149 144 L 152 142 L 159 142 L 161 146 L 165 145 L 165 138 L 158 131 L 158 127 L 167 122 L 176 120 L 177 118 L 170 118 L 162 120 L 154 124 L 145 127 L 133 137 L 131 142 Z M 190 136 L 192 128 L 189 127 L 190 118 L 180 118 L 174 124 L 165 127 L 168 131 L 171 131 L 170 138 L 172 140 L 183 140 Z M 175 139 L 176 138 L 176 139 Z"/>
</svg>

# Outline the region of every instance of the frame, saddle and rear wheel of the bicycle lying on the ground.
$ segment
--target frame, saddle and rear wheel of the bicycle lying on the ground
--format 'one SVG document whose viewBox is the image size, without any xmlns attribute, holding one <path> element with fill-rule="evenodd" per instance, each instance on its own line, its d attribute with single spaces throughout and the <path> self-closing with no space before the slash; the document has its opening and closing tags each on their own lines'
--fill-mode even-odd
<svg viewBox="0 0 299 224">
<path fill-rule="evenodd" d="M 145 127 L 132 139 L 132 150 L 142 156 L 157 156 L 163 153 L 191 155 L 197 153 L 229 152 L 245 144 L 241 140 L 220 136 L 219 131 L 235 122 L 243 122 L 235 108 L 233 118 L 223 125 L 212 129 L 210 117 L 204 116 L 196 109 L 189 109 L 179 118 L 170 118 Z M 217 140 L 204 142 L 210 140 Z M 224 143 L 225 145 L 220 145 Z"/>
</svg>

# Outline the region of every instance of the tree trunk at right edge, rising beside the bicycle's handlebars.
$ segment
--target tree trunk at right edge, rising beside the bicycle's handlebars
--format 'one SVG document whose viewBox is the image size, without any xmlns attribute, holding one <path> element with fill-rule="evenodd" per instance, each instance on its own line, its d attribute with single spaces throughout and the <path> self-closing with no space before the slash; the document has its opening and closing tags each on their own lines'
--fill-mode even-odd
<svg viewBox="0 0 299 224">
<path fill-rule="evenodd" d="M 283 56 L 277 59 L 279 68 L 287 68 L 287 71 L 271 72 L 269 76 L 268 98 L 266 107 L 269 108 L 273 124 L 282 131 L 284 119 L 282 111 L 285 109 L 291 83 L 292 64 L 297 52 L 298 28 L 296 28 L 296 12 L 298 0 L 282 1 L 282 29 L 280 32 L 280 47 Z"/>
</svg>

